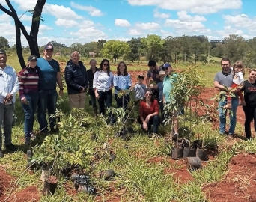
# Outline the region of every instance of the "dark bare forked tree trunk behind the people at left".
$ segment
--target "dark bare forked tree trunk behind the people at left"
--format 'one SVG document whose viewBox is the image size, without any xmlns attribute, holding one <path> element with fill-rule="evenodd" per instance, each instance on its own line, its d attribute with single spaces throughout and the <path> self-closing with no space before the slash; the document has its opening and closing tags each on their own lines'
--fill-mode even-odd
<svg viewBox="0 0 256 202">
<path fill-rule="evenodd" d="M 20 40 L 21 31 L 24 37 L 26 38 L 26 40 L 28 41 L 28 46 L 29 46 L 31 55 L 37 55 L 37 57 L 40 57 L 37 36 L 38 36 L 40 21 L 43 20 L 41 18 L 41 15 L 42 15 L 43 6 L 46 3 L 46 0 L 37 0 L 34 10 L 28 10 L 30 13 L 33 14 L 30 34 L 28 34 L 28 32 L 26 31 L 25 26 L 20 21 L 18 14 L 16 13 L 16 10 L 13 8 L 13 5 L 10 4 L 10 1 L 9 0 L 5 0 L 5 1 L 7 3 L 7 6 L 10 8 L 10 10 L 7 10 L 7 8 L 3 7 L 2 4 L 0 4 L 0 10 L 2 10 L 4 13 L 7 13 L 7 15 L 11 16 L 14 19 L 15 28 L 16 28 L 16 53 L 19 58 L 20 66 L 24 68 L 25 61 L 22 55 L 22 44 Z"/>
</svg>

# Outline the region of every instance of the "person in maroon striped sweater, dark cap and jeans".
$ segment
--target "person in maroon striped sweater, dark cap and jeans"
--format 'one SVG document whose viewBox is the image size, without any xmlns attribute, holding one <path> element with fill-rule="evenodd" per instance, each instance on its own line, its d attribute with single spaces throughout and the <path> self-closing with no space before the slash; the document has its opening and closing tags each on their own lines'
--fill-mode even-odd
<svg viewBox="0 0 256 202">
<path fill-rule="evenodd" d="M 37 57 L 31 55 L 28 57 L 28 67 L 19 72 L 19 98 L 25 113 L 25 144 L 31 144 L 33 135 L 34 113 L 39 97 L 38 79 Z"/>
</svg>

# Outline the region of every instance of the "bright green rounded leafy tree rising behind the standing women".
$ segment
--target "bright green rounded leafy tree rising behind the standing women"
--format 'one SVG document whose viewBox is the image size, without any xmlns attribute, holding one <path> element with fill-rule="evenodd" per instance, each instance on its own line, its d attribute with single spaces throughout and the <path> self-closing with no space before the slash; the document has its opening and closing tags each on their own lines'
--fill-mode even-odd
<svg viewBox="0 0 256 202">
<path fill-rule="evenodd" d="M 130 52 L 129 44 L 120 40 L 109 40 L 105 43 L 103 49 L 101 49 L 100 54 L 104 58 L 114 59 L 114 63 L 120 57 L 128 58 Z"/>
</svg>

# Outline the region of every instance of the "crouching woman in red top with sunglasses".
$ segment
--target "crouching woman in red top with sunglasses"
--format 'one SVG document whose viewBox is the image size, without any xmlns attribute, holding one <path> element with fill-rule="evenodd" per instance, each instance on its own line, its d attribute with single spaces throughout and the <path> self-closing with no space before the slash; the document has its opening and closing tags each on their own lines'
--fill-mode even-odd
<svg viewBox="0 0 256 202">
<path fill-rule="evenodd" d="M 141 120 L 141 129 L 150 130 L 153 124 L 153 133 L 157 134 L 159 126 L 159 106 L 157 100 L 152 96 L 152 91 L 147 89 L 144 94 L 144 100 L 139 107 L 139 117 Z"/>
</svg>

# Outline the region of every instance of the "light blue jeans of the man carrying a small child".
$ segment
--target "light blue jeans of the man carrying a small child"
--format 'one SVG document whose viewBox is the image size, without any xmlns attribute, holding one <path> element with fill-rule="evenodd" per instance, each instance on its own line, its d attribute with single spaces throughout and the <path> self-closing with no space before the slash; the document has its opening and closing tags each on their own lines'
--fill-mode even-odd
<svg viewBox="0 0 256 202">
<path fill-rule="evenodd" d="M 234 130 L 236 128 L 237 124 L 237 106 L 239 104 L 239 100 L 237 98 L 233 98 L 231 100 L 231 111 L 232 114 L 229 113 L 229 118 L 230 118 L 230 127 L 228 129 L 228 134 L 234 134 Z M 223 112 L 224 106 L 227 105 L 227 100 L 225 101 L 220 101 L 219 102 L 219 133 L 224 134 L 225 132 L 225 126 L 226 126 L 226 115 L 228 109 L 225 110 L 225 113 Z"/>
</svg>

